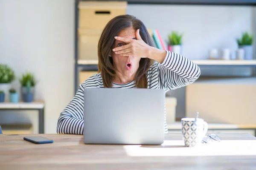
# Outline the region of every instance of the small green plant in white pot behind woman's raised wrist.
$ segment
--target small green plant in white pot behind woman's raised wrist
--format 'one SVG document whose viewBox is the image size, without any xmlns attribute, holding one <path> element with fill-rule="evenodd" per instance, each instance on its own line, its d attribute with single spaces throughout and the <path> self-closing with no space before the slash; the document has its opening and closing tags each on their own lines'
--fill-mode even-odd
<svg viewBox="0 0 256 170">
<path fill-rule="evenodd" d="M 177 54 L 181 54 L 182 37 L 183 34 L 179 34 L 177 31 L 172 31 L 172 34 L 168 35 L 168 50 Z"/>
</svg>

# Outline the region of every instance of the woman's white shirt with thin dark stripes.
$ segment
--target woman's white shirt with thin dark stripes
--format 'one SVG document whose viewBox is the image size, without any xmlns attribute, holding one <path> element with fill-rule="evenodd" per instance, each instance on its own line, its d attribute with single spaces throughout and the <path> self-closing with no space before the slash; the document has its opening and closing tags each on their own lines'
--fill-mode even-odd
<svg viewBox="0 0 256 170">
<path fill-rule="evenodd" d="M 195 82 L 201 70 L 189 59 L 167 51 L 163 63 L 154 62 L 147 72 L 148 88 L 164 89 L 165 92 L 174 90 Z M 104 88 L 101 74 L 94 74 L 79 85 L 76 95 L 61 112 L 57 133 L 83 134 L 84 133 L 84 88 Z M 135 82 L 116 84 L 113 88 L 136 88 Z M 168 133 L 166 113 L 164 114 L 164 132 Z"/>
</svg>

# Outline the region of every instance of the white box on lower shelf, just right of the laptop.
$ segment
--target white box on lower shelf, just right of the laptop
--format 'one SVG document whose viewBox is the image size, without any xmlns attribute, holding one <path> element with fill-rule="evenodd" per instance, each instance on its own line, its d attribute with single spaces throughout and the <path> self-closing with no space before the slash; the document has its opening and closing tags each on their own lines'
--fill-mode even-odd
<svg viewBox="0 0 256 170">
<path fill-rule="evenodd" d="M 166 123 L 174 123 L 176 119 L 177 99 L 175 97 L 166 96 Z"/>
</svg>

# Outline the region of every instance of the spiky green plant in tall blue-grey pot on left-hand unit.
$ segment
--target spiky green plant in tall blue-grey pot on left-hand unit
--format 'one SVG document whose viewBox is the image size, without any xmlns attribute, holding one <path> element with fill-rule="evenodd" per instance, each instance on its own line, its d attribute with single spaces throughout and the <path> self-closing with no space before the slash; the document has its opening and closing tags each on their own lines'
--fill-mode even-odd
<svg viewBox="0 0 256 170">
<path fill-rule="evenodd" d="M 23 74 L 20 83 L 23 102 L 32 102 L 34 100 L 36 84 L 34 75 L 31 73 Z"/>
</svg>

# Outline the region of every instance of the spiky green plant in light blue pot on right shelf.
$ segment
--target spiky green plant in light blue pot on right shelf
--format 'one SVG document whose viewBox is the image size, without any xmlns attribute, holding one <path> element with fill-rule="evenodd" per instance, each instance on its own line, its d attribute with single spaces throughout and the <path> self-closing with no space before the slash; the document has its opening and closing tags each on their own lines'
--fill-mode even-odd
<svg viewBox="0 0 256 170">
<path fill-rule="evenodd" d="M 253 35 L 244 32 L 242 37 L 236 39 L 238 48 L 244 49 L 244 59 L 253 59 Z"/>
</svg>

